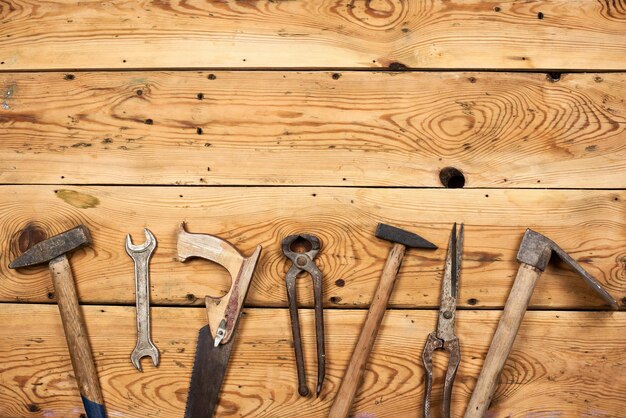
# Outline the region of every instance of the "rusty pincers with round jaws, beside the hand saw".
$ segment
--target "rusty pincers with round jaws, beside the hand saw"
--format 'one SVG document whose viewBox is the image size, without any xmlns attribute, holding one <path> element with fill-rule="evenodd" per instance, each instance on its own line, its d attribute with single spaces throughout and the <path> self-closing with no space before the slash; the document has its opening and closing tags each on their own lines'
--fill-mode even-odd
<svg viewBox="0 0 626 418">
<path fill-rule="evenodd" d="M 295 243 L 302 243 L 307 251 L 297 252 L 292 249 Z M 289 235 L 282 242 L 283 254 L 291 260 L 293 265 L 285 276 L 287 286 L 287 300 L 289 301 L 289 316 L 291 319 L 291 331 L 293 334 L 293 347 L 296 353 L 296 369 L 298 370 L 298 393 L 300 396 L 308 396 L 309 388 L 306 384 L 304 369 L 304 355 L 302 354 L 302 338 L 300 336 L 300 319 L 298 318 L 298 301 L 296 298 L 296 277 L 302 272 L 307 272 L 313 279 L 313 297 L 315 302 L 315 335 L 317 340 L 317 388 L 316 396 L 319 396 L 326 372 L 326 354 L 324 354 L 324 314 L 322 299 L 322 272 L 315 264 L 315 257 L 320 251 L 320 240 L 315 235 L 298 234 Z"/>
</svg>

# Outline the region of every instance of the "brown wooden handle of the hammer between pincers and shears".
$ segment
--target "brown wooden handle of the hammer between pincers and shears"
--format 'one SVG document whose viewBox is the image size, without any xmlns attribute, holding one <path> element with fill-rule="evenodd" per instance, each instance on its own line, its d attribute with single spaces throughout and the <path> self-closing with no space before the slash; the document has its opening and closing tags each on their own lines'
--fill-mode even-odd
<svg viewBox="0 0 626 418">
<path fill-rule="evenodd" d="M 341 382 L 339 392 L 335 397 L 335 401 L 330 408 L 328 418 L 345 418 L 350 413 L 352 402 L 354 401 L 356 391 L 361 383 L 361 378 L 363 377 L 363 372 L 367 365 L 367 359 L 372 351 L 376 334 L 378 334 L 380 323 L 387 309 L 387 303 L 389 302 L 389 297 L 391 296 L 396 275 L 402 264 L 405 251 L 406 247 L 404 245 L 395 243 L 389 252 L 383 273 L 378 282 L 378 288 L 374 294 L 374 299 L 367 312 L 365 325 L 356 343 L 356 347 L 352 352 L 350 363 L 348 363 L 348 368 Z"/>
</svg>

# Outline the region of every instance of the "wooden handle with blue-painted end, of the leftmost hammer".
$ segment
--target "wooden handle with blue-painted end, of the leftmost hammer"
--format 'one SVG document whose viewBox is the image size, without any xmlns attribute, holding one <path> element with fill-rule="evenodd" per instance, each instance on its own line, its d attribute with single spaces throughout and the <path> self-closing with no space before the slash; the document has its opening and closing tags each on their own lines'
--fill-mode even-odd
<svg viewBox="0 0 626 418">
<path fill-rule="evenodd" d="M 72 360 L 72 368 L 78 382 L 88 418 L 105 417 L 102 391 L 98 382 L 96 366 L 87 338 L 85 320 L 78 304 L 76 286 L 67 256 L 50 261 L 50 274 L 57 297 L 65 339 Z"/>
</svg>

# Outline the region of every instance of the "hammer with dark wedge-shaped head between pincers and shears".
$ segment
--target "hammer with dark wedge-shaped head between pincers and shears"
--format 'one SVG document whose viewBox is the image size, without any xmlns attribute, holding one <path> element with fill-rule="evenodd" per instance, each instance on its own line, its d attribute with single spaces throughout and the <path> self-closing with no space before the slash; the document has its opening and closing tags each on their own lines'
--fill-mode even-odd
<svg viewBox="0 0 626 418">
<path fill-rule="evenodd" d="M 361 378 L 367 365 L 367 359 L 374 346 L 380 323 L 383 320 L 398 270 L 400 270 L 406 247 L 437 249 L 435 244 L 426 241 L 419 235 L 385 224 L 378 224 L 376 237 L 391 241 L 394 244 L 385 262 L 383 273 L 378 282 L 378 288 L 376 293 L 374 293 L 374 299 L 367 312 L 365 325 L 352 352 L 348 369 L 343 377 L 335 401 L 330 408 L 328 418 L 345 418 L 350 412 L 356 390 L 361 383 Z"/>
</svg>

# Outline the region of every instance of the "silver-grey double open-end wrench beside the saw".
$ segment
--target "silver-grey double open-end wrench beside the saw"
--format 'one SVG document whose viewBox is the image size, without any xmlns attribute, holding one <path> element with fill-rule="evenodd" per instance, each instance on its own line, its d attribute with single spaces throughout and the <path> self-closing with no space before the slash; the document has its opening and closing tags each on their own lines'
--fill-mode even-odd
<svg viewBox="0 0 626 418">
<path fill-rule="evenodd" d="M 137 298 L 137 345 L 130 355 L 130 361 L 139 371 L 140 360 L 149 356 L 155 366 L 159 365 L 159 350 L 150 338 L 150 257 L 156 248 L 156 238 L 148 228 L 143 229 L 146 242 L 134 245 L 130 234 L 126 235 L 126 252 L 135 262 L 135 294 Z"/>
</svg>

